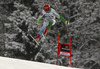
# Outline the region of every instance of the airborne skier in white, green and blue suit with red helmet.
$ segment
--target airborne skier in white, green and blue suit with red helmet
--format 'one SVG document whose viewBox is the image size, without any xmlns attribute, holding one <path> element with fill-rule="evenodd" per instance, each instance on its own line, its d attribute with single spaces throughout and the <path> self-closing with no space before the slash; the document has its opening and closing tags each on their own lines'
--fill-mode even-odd
<svg viewBox="0 0 100 69">
<path fill-rule="evenodd" d="M 37 37 L 35 37 L 35 39 L 37 41 L 41 37 L 42 33 L 44 35 L 46 35 L 47 31 L 50 30 L 51 26 L 53 26 L 55 24 L 55 17 L 57 17 L 58 19 L 63 21 L 65 24 L 68 23 L 68 21 L 66 21 L 66 19 L 64 19 L 62 16 L 60 16 L 53 8 L 50 8 L 49 4 L 44 5 L 42 12 L 37 19 L 37 23 L 36 23 L 37 25 L 39 24 L 42 17 L 45 17 L 45 19 L 44 19 L 42 28 L 38 32 Z"/>
</svg>

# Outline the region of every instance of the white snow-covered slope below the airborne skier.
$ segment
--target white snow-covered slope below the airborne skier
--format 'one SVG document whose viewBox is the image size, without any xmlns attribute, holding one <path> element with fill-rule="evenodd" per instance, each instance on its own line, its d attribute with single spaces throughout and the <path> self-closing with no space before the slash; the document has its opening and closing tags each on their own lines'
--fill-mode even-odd
<svg viewBox="0 0 100 69">
<path fill-rule="evenodd" d="M 39 62 L 0 57 L 0 69 L 78 69 Z"/>
</svg>

